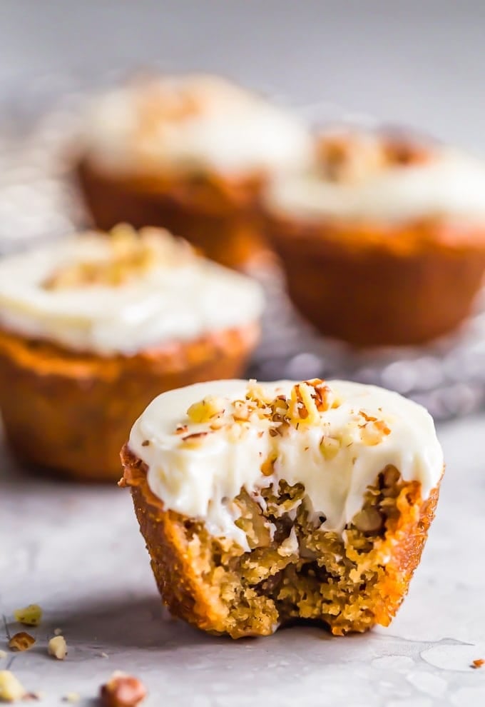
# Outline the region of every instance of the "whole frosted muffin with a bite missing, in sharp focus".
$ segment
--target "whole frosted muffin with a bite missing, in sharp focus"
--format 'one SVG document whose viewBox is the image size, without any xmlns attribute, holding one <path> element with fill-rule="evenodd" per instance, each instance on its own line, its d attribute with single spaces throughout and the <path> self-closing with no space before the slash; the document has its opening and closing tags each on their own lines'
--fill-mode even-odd
<svg viewBox="0 0 485 707">
<path fill-rule="evenodd" d="M 443 471 L 424 408 L 318 379 L 164 393 L 121 456 L 163 601 L 233 638 L 296 618 L 338 635 L 387 626 Z"/>
</svg>

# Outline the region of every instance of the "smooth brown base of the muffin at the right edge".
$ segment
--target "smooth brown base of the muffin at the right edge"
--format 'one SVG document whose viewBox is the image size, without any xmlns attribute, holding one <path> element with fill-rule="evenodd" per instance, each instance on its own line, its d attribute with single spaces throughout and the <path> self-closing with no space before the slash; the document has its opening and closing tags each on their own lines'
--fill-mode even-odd
<svg viewBox="0 0 485 707">
<path fill-rule="evenodd" d="M 271 217 L 290 298 L 322 334 L 355 346 L 422 344 L 469 316 L 485 273 L 485 229 Z"/>
</svg>

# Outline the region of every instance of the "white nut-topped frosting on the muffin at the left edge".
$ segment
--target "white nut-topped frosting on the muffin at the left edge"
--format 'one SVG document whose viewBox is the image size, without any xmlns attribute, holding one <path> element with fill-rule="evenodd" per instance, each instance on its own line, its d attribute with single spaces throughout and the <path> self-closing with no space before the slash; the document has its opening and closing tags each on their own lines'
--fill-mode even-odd
<svg viewBox="0 0 485 707">
<path fill-rule="evenodd" d="M 130 355 L 259 319 L 260 287 L 185 241 L 158 229 L 121 241 L 83 234 L 2 259 L 0 325 L 75 351 Z"/>
</svg>

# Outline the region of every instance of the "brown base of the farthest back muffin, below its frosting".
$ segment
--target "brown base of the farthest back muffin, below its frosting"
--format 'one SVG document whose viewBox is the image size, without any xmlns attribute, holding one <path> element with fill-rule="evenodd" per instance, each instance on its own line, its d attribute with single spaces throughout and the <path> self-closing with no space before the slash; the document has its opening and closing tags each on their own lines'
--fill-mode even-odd
<svg viewBox="0 0 485 707">
<path fill-rule="evenodd" d="M 98 229 L 121 222 L 136 229 L 162 226 L 235 269 L 269 256 L 257 208 L 260 176 L 123 177 L 96 169 L 88 159 L 78 164 L 77 176 Z"/>
</svg>

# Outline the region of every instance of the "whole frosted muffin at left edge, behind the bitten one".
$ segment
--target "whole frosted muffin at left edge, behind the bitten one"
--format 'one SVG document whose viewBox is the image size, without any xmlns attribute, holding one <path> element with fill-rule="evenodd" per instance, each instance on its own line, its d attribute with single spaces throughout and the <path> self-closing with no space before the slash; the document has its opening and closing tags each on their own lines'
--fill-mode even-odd
<svg viewBox="0 0 485 707">
<path fill-rule="evenodd" d="M 21 460 L 118 480 L 155 395 L 239 375 L 259 287 L 159 229 L 84 234 L 0 262 L 0 409 Z"/>
</svg>

